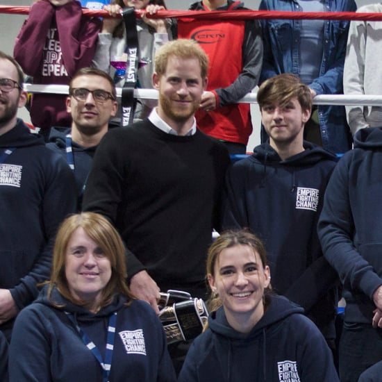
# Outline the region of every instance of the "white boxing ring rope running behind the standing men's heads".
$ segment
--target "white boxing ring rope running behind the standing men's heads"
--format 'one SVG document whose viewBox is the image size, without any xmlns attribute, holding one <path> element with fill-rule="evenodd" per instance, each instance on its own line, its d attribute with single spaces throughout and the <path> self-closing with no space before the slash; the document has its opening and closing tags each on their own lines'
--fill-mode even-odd
<svg viewBox="0 0 382 382">
<path fill-rule="evenodd" d="M 48 93 L 48 94 L 68 94 L 68 85 L 33 85 L 24 83 L 24 90 L 30 93 Z M 122 88 L 117 88 L 117 97 L 120 98 Z M 135 89 L 135 98 L 158 99 L 158 90 L 155 89 Z M 248 93 L 239 103 L 257 103 L 256 93 Z M 382 106 L 382 95 L 344 95 L 344 94 L 324 94 L 317 95 L 313 99 L 315 105 L 367 105 Z"/>
</svg>

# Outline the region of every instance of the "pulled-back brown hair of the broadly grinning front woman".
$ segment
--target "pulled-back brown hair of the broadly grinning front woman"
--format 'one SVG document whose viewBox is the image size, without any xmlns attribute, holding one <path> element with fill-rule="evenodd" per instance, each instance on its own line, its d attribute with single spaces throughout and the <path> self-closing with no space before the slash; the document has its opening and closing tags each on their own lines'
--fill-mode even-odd
<svg viewBox="0 0 382 382">
<path fill-rule="evenodd" d="M 236 245 L 247 245 L 253 249 L 254 252 L 260 256 L 261 264 L 263 268 L 267 266 L 267 253 L 263 242 L 253 233 L 241 229 L 239 231 L 226 231 L 222 233 L 214 242 L 210 245 L 207 254 L 207 275 L 211 274 L 215 277 L 215 265 L 219 260 L 219 256 L 226 248 L 235 247 Z M 264 290 L 264 304 L 267 306 L 267 296 L 272 292 L 272 286 L 269 285 Z M 208 301 L 208 310 L 216 310 L 222 305 L 219 297 L 211 292 L 210 300 Z"/>
</svg>

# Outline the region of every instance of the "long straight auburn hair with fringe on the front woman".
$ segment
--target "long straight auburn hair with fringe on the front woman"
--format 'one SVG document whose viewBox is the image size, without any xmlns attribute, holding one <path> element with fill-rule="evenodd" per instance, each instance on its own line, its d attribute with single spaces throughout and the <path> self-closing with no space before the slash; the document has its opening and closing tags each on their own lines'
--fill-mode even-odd
<svg viewBox="0 0 382 382">
<path fill-rule="evenodd" d="M 74 231 L 80 227 L 90 239 L 99 245 L 105 256 L 110 260 L 111 277 L 102 291 L 100 308 L 110 304 L 116 292 L 124 294 L 128 298 L 128 302 L 130 302 L 134 297 L 126 284 L 127 274 L 124 243 L 119 233 L 106 217 L 90 212 L 78 213 L 67 217 L 58 229 L 53 249 L 51 280 L 49 281 L 48 290 L 49 300 L 53 305 L 58 306 L 58 304 L 51 299 L 51 292 L 53 287 L 56 286 L 63 297 L 73 304 L 80 306 L 85 304 L 85 301 L 79 301 L 72 296 L 65 276 L 67 244 L 70 238 L 72 238 Z"/>
</svg>

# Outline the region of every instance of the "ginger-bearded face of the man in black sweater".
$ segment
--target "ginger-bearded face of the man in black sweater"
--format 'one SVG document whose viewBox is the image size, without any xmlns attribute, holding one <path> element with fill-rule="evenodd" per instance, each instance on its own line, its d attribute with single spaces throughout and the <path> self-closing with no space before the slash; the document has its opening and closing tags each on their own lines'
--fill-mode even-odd
<svg viewBox="0 0 382 382">
<path fill-rule="evenodd" d="M 197 58 L 169 56 L 165 73 L 153 75 L 154 88 L 159 90 L 158 115 L 178 133 L 183 127 L 189 130 L 206 84 Z"/>
</svg>

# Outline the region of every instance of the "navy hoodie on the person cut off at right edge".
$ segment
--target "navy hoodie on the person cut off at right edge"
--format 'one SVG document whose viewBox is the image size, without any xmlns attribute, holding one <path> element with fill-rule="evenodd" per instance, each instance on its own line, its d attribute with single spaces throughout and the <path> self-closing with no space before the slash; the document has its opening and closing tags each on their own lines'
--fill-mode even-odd
<svg viewBox="0 0 382 382">
<path fill-rule="evenodd" d="M 382 285 L 382 127 L 363 128 L 326 189 L 318 233 L 346 299 L 345 322 L 371 324 Z"/>
</svg>

